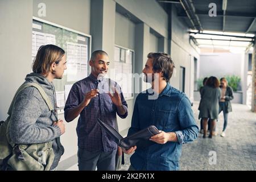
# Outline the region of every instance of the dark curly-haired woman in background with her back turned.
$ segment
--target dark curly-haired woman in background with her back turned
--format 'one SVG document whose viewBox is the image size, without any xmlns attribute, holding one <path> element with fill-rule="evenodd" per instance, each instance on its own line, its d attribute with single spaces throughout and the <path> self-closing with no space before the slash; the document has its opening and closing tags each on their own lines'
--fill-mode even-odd
<svg viewBox="0 0 256 182">
<path fill-rule="evenodd" d="M 216 120 L 218 119 L 218 111 L 220 101 L 221 90 L 219 88 L 220 82 L 214 76 L 208 78 L 205 86 L 201 89 L 201 102 L 199 106 L 199 118 L 203 118 L 204 136 L 207 135 L 207 121 L 210 119 L 210 135 L 212 138 L 213 130 L 216 126 Z"/>
</svg>

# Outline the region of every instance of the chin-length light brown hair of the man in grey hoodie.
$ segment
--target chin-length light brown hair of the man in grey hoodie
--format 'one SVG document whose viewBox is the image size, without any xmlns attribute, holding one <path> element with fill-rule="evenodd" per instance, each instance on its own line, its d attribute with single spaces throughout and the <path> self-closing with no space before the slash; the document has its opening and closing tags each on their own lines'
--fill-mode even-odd
<svg viewBox="0 0 256 182">
<path fill-rule="evenodd" d="M 32 70 L 34 73 L 43 73 L 48 75 L 52 63 L 59 64 L 61 58 L 64 56 L 65 51 L 52 44 L 41 46 L 38 49 L 35 60 L 33 62 Z"/>
</svg>

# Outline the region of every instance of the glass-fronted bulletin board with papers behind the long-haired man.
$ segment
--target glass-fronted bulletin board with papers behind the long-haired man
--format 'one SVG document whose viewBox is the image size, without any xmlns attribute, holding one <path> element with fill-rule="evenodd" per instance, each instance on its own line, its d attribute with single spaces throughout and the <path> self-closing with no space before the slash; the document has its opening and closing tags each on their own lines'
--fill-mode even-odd
<svg viewBox="0 0 256 182">
<path fill-rule="evenodd" d="M 63 78 L 53 80 L 57 107 L 63 111 L 72 85 L 88 76 L 91 36 L 36 17 L 32 21 L 32 62 L 40 46 L 54 44 L 64 49 L 67 68 Z"/>
</svg>

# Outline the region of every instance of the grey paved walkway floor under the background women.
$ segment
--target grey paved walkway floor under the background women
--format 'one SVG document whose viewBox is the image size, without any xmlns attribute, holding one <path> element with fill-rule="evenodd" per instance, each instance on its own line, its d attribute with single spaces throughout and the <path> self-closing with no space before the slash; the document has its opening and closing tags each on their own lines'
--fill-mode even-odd
<svg viewBox="0 0 256 182">
<path fill-rule="evenodd" d="M 198 102 L 194 103 L 193 110 L 197 125 L 200 126 L 200 121 L 197 119 L 198 104 Z M 256 113 L 252 113 L 246 105 L 232 104 L 232 107 L 233 112 L 229 114 L 226 137 L 220 137 L 224 123 L 221 113 L 216 137 L 204 139 L 203 134 L 199 134 L 194 142 L 183 144 L 181 171 L 256 170 Z M 130 166 L 128 155 L 125 155 L 125 163 L 121 170 L 127 170 Z"/>
</svg>

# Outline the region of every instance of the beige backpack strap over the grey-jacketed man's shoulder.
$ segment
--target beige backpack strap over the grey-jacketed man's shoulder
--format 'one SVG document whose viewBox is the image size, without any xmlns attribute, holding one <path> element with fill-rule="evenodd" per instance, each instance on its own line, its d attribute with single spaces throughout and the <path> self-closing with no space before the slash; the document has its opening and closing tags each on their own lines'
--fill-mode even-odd
<svg viewBox="0 0 256 182">
<path fill-rule="evenodd" d="M 16 100 L 16 97 L 18 96 L 18 94 L 26 89 L 27 87 L 30 87 L 30 86 L 34 86 L 36 89 L 38 89 L 39 93 L 41 94 L 41 96 L 43 97 L 43 100 L 46 102 L 48 108 L 50 111 L 53 111 L 54 108 L 52 106 L 52 102 L 51 100 L 49 99 L 49 97 L 47 96 L 46 92 L 44 92 L 43 88 L 39 85 L 39 84 L 36 84 L 36 83 L 26 83 L 26 84 L 23 84 L 19 87 L 19 89 L 16 91 L 15 93 L 15 96 L 13 97 L 13 101 L 11 102 L 11 105 L 9 107 L 9 110 L 8 110 L 8 114 L 11 115 L 12 111 L 13 111 L 13 105 L 14 105 L 14 102 Z"/>
</svg>

